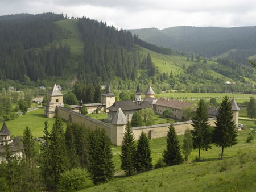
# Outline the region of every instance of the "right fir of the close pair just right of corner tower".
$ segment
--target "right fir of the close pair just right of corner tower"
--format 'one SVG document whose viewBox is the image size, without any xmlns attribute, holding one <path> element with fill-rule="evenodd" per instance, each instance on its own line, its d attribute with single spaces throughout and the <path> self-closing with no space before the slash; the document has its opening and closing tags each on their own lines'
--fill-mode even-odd
<svg viewBox="0 0 256 192">
<path fill-rule="evenodd" d="M 144 132 L 141 132 L 141 135 L 139 136 L 135 157 L 136 169 L 138 172 L 145 171 L 153 167 L 150 145 Z"/>
</svg>

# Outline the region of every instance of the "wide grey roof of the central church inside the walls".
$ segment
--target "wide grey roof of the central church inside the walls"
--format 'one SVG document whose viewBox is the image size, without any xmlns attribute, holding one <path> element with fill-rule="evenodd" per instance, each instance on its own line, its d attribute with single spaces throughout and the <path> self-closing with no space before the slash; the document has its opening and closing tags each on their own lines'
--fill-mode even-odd
<svg viewBox="0 0 256 192">
<path fill-rule="evenodd" d="M 143 108 L 151 108 L 151 106 L 147 102 L 142 103 L 135 103 L 131 100 L 124 100 L 124 101 L 116 101 L 110 107 L 108 107 L 109 111 L 118 111 L 121 108 L 122 111 L 129 111 L 129 110 L 141 110 Z"/>
</svg>

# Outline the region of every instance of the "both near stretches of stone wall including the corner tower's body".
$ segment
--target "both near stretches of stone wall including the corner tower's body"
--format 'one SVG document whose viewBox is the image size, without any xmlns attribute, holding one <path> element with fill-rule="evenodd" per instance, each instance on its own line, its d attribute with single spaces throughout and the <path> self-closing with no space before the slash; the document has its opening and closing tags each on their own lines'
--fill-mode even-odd
<svg viewBox="0 0 256 192">
<path fill-rule="evenodd" d="M 75 112 L 72 110 L 68 110 L 67 108 L 58 106 L 57 114 L 59 114 L 60 118 L 65 119 L 67 121 L 71 121 L 72 123 L 82 124 L 87 128 L 103 128 L 106 131 L 106 134 L 111 140 L 113 145 L 120 146 L 122 144 L 122 137 L 125 131 L 125 126 L 116 126 L 113 124 L 104 123 L 100 120 L 89 118 L 88 116 L 82 115 L 79 112 Z M 210 126 L 214 126 L 216 118 L 210 118 L 209 124 Z M 182 135 L 185 133 L 185 130 L 192 130 L 193 126 L 191 125 L 192 121 L 189 120 L 187 122 L 177 122 L 173 123 L 175 127 L 175 131 L 177 135 Z M 170 123 L 166 124 L 157 124 L 153 126 L 143 126 L 143 127 L 132 127 L 134 133 L 134 139 L 138 140 L 141 132 L 146 133 L 149 139 L 156 139 L 160 137 L 165 137 L 169 130 Z M 117 138 L 121 137 L 121 138 Z"/>
</svg>

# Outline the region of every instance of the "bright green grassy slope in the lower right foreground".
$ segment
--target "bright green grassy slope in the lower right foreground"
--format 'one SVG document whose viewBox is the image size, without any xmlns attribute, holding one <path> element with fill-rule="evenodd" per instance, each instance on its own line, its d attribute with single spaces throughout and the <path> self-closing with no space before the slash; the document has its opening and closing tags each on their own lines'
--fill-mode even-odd
<svg viewBox="0 0 256 192">
<path fill-rule="evenodd" d="M 254 191 L 255 162 L 255 151 L 252 151 L 240 157 L 170 166 L 116 178 L 82 191 Z"/>
</svg>

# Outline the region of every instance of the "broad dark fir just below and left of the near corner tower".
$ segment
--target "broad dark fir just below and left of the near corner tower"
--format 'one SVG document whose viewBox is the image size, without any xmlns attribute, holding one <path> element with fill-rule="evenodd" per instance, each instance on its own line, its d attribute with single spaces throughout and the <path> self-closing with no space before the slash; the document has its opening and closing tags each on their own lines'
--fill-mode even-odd
<svg viewBox="0 0 256 192">
<path fill-rule="evenodd" d="M 105 130 L 96 128 L 92 132 L 90 147 L 90 172 L 94 183 L 106 183 L 114 176 L 113 153 Z"/>
</svg>

